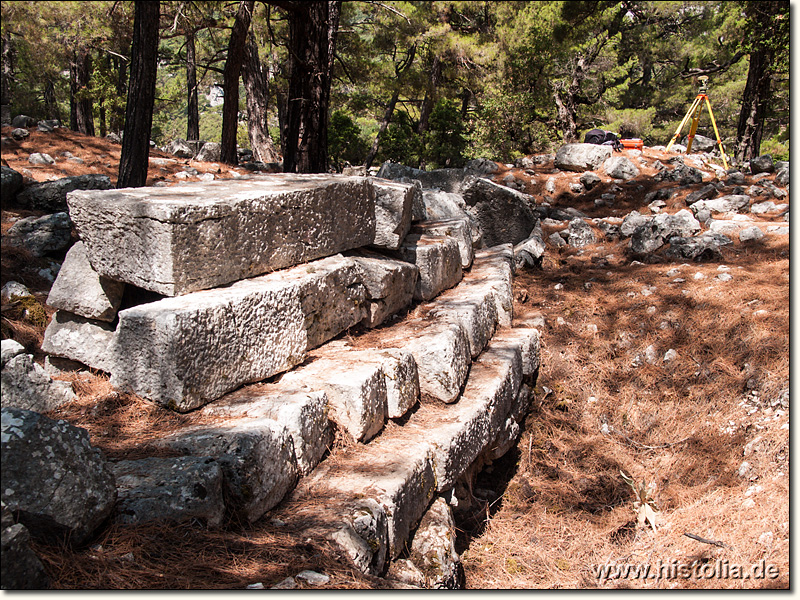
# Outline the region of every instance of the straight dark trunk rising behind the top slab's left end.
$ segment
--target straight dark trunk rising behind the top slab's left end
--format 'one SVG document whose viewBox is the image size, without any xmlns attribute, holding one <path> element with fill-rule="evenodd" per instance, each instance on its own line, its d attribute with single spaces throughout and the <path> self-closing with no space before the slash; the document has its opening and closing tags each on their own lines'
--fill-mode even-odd
<svg viewBox="0 0 800 600">
<path fill-rule="evenodd" d="M 137 0 L 133 21 L 130 83 L 125 107 L 125 131 L 117 187 L 142 187 L 147 183 L 150 129 L 156 96 L 158 19 L 160 2 Z"/>
</svg>

